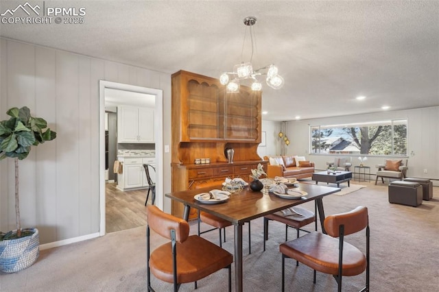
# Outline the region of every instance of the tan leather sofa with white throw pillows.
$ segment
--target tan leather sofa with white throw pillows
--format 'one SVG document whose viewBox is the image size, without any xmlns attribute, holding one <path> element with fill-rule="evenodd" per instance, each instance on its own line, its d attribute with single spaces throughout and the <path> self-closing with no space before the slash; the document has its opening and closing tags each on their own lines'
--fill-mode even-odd
<svg viewBox="0 0 439 292">
<path fill-rule="evenodd" d="M 264 156 L 263 160 L 268 160 L 268 178 L 311 178 L 314 173 L 314 163 L 303 156 Z"/>
</svg>

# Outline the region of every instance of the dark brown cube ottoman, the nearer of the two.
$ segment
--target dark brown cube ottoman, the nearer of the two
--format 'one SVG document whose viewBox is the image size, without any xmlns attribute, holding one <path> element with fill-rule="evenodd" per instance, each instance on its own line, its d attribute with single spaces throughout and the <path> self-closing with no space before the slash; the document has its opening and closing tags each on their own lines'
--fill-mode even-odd
<svg viewBox="0 0 439 292">
<path fill-rule="evenodd" d="M 423 204 L 423 187 L 418 182 L 396 181 L 389 184 L 389 203 L 417 207 Z"/>
</svg>

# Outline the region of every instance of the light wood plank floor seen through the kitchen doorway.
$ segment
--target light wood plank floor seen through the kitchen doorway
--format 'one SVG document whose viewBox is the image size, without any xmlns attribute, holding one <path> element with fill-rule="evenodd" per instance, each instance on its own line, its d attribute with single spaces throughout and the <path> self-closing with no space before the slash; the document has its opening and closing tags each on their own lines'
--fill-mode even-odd
<svg viewBox="0 0 439 292">
<path fill-rule="evenodd" d="M 146 226 L 147 189 L 123 192 L 116 188 L 116 183 L 107 183 L 105 194 L 107 233 Z M 151 197 L 150 194 L 148 204 Z"/>
</svg>

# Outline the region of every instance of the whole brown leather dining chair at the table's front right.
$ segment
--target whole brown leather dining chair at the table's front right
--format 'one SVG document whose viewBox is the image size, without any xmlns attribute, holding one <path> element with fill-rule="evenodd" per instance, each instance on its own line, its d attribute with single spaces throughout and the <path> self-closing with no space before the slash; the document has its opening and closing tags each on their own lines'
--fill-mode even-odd
<svg viewBox="0 0 439 292">
<path fill-rule="evenodd" d="M 365 228 L 366 255 L 344 241 L 344 236 Z M 359 206 L 350 212 L 331 215 L 324 219 L 324 229 L 328 234 L 311 232 L 279 245 L 282 253 L 282 291 L 285 291 L 285 258 L 294 258 L 314 269 L 314 283 L 316 271 L 333 275 L 338 291 L 342 291 L 342 276 L 355 276 L 366 270 L 366 287 L 361 291 L 369 291 L 368 209 Z"/>
</svg>

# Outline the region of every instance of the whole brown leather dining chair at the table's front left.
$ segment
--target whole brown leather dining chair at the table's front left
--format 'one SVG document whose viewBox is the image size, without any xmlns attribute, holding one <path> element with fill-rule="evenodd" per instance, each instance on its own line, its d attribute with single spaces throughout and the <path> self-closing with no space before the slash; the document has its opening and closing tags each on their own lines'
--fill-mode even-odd
<svg viewBox="0 0 439 292">
<path fill-rule="evenodd" d="M 189 236 L 187 221 L 166 214 L 156 206 L 147 206 L 147 291 L 151 287 L 151 273 L 165 282 L 174 283 L 174 291 L 180 284 L 195 282 L 219 269 L 228 269 L 228 291 L 232 290 L 231 264 L 233 256 L 221 247 L 198 235 Z M 150 230 L 171 242 L 151 252 Z"/>
</svg>

